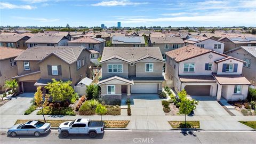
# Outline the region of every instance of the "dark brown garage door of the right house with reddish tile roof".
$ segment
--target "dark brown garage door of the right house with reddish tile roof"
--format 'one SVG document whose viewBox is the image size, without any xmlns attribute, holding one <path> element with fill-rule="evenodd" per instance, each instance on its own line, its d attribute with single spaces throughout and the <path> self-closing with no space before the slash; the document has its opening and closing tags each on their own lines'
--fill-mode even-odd
<svg viewBox="0 0 256 144">
<path fill-rule="evenodd" d="M 188 95 L 210 95 L 210 85 L 187 85 L 185 90 Z"/>
</svg>

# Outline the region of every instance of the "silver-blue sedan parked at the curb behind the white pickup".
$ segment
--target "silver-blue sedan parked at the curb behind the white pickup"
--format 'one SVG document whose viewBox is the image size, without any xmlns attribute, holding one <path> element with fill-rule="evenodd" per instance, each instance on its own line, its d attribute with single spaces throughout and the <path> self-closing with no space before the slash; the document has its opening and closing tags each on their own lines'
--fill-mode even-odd
<svg viewBox="0 0 256 144">
<path fill-rule="evenodd" d="M 28 121 L 23 124 L 16 124 L 12 126 L 7 131 L 7 134 L 10 134 L 12 137 L 15 137 L 16 135 L 35 135 L 36 137 L 39 137 L 41 134 L 48 133 L 50 129 L 50 123 Z"/>
</svg>

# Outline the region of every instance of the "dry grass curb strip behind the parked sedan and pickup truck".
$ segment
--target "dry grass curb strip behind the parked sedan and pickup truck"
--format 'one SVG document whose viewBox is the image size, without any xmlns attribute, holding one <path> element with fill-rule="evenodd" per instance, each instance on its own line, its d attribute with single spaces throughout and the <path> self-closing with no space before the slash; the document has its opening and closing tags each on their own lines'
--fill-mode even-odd
<svg viewBox="0 0 256 144">
<path fill-rule="evenodd" d="M 29 119 L 18 119 L 15 124 L 25 123 L 28 121 L 33 121 Z M 44 120 L 39 120 L 44 121 Z M 59 125 L 63 122 L 71 121 L 71 120 L 46 120 L 47 123 L 50 123 L 52 127 L 59 127 Z M 130 121 L 104 121 L 106 128 L 125 128 Z"/>
</svg>

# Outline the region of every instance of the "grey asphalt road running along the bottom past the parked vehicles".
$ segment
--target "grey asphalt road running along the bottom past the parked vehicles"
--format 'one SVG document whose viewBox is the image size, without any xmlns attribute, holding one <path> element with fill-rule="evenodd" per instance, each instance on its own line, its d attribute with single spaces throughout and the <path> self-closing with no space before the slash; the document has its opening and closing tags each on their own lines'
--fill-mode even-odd
<svg viewBox="0 0 256 144">
<path fill-rule="evenodd" d="M 0 143 L 256 143 L 256 132 L 222 132 L 222 131 L 111 131 L 107 130 L 97 138 L 91 139 L 88 135 L 71 135 L 61 138 L 58 131 L 52 130 L 49 134 L 39 138 L 34 136 L 17 136 L 12 138 L 1 131 Z"/>
</svg>

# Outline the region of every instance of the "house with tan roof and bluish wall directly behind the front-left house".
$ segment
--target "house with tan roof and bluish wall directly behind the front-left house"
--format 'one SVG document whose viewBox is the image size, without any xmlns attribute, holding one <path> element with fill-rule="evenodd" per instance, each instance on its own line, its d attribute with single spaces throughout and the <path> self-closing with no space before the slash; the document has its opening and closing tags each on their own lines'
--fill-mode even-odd
<svg viewBox="0 0 256 144">
<path fill-rule="evenodd" d="M 67 46 L 69 39 L 62 35 L 37 34 L 26 41 L 27 47 L 33 46 Z"/>
</svg>

